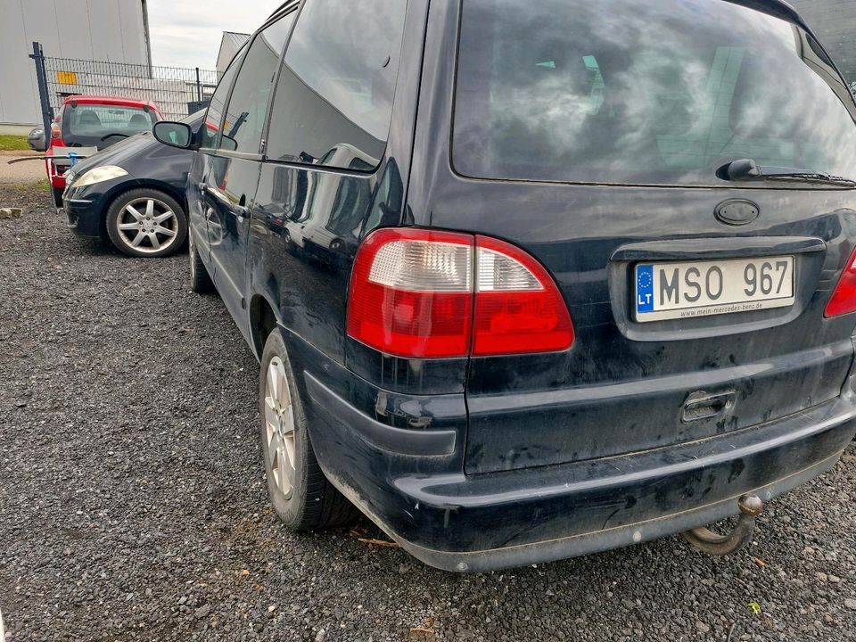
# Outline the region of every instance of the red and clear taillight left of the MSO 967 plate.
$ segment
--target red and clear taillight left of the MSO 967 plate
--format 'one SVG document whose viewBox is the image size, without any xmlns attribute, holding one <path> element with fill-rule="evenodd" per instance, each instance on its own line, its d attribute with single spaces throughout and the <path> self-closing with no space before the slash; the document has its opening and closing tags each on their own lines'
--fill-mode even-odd
<svg viewBox="0 0 856 642">
<path fill-rule="evenodd" d="M 485 236 L 383 229 L 360 246 L 348 334 L 406 358 L 567 350 L 573 326 L 547 270 Z"/>
</svg>

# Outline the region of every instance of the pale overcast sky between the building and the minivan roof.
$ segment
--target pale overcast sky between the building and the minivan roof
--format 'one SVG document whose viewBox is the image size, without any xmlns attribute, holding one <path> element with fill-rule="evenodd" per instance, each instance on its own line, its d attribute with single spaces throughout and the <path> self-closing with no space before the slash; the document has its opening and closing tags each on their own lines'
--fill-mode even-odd
<svg viewBox="0 0 856 642">
<path fill-rule="evenodd" d="M 252 33 L 283 0 L 149 0 L 152 64 L 214 69 L 224 31 Z"/>
</svg>

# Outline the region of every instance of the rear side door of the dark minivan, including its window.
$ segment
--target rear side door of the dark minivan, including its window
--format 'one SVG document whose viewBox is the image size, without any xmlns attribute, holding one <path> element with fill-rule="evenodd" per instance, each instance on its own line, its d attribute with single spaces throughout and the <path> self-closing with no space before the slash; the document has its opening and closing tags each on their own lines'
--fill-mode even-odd
<svg viewBox="0 0 856 642">
<path fill-rule="evenodd" d="M 262 132 L 294 12 L 259 31 L 247 50 L 229 95 L 214 150 L 206 150 L 201 189 L 210 204 L 209 234 L 214 283 L 244 333 L 246 259 L 250 214 L 259 184 Z"/>
</svg>

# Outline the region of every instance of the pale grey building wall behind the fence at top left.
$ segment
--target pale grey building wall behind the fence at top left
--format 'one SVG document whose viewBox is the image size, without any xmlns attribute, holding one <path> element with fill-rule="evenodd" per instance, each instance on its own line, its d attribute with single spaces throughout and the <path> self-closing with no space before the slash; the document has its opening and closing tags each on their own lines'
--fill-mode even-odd
<svg viewBox="0 0 856 642">
<path fill-rule="evenodd" d="M 33 41 L 46 56 L 150 64 L 145 0 L 0 0 L 0 123 L 41 122 Z"/>
</svg>

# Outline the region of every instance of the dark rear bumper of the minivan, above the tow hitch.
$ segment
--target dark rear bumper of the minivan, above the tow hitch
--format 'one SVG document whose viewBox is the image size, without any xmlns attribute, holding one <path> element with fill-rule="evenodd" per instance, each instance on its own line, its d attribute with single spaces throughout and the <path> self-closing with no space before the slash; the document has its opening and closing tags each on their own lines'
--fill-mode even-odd
<svg viewBox="0 0 856 642">
<path fill-rule="evenodd" d="M 368 384 L 323 358 L 305 364 L 312 442 L 327 476 L 413 556 L 449 571 L 587 555 L 716 522 L 737 514 L 746 492 L 769 500 L 827 471 L 856 433 L 848 386 L 809 411 L 705 440 L 466 475 L 465 410 L 461 430 L 454 413 L 433 410 L 424 412 L 430 430 L 392 427 L 386 411 L 372 418 L 357 409 Z M 342 377 L 350 379 L 334 391 Z M 457 396 L 398 403 L 391 392 L 374 394 L 384 407 L 457 407 Z"/>
</svg>

